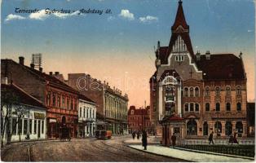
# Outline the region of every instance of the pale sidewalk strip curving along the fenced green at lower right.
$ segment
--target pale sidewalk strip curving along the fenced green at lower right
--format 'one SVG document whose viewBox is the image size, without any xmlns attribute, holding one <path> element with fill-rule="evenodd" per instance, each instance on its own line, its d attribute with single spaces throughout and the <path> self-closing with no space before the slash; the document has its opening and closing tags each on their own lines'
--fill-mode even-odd
<svg viewBox="0 0 256 163">
<path fill-rule="evenodd" d="M 184 151 L 183 149 L 177 148 L 166 148 L 158 145 L 148 145 L 147 150 L 143 150 L 141 145 L 128 145 L 130 148 L 135 148 L 143 152 L 150 152 L 161 156 L 170 156 L 174 158 L 183 159 L 186 161 L 196 161 L 196 162 L 253 162 L 253 159 L 247 159 L 242 157 L 232 157 L 232 156 L 220 156 L 210 153 L 200 153 Z"/>
</svg>

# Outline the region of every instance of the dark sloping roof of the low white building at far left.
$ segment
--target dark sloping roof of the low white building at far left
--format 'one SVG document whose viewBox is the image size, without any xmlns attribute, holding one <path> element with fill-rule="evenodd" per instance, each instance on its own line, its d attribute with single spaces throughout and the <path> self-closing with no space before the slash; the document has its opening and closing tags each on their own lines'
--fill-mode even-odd
<svg viewBox="0 0 256 163">
<path fill-rule="evenodd" d="M 27 92 L 22 90 L 19 86 L 16 86 L 15 84 L 1 84 L 1 95 L 5 93 L 5 90 L 11 91 L 14 93 L 14 95 L 17 97 L 18 104 L 27 104 L 39 108 L 46 108 L 42 102 L 36 98 L 34 98 L 32 95 L 29 95 Z"/>
</svg>

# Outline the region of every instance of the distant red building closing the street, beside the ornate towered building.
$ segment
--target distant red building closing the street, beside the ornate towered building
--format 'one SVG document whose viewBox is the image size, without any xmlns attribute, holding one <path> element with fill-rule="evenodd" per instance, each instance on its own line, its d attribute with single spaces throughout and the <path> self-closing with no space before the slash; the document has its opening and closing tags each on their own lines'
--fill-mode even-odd
<svg viewBox="0 0 256 163">
<path fill-rule="evenodd" d="M 135 108 L 130 106 L 128 111 L 128 126 L 129 132 L 132 133 L 137 130 L 147 130 L 152 132 L 150 121 L 150 107 L 147 108 Z"/>
</svg>

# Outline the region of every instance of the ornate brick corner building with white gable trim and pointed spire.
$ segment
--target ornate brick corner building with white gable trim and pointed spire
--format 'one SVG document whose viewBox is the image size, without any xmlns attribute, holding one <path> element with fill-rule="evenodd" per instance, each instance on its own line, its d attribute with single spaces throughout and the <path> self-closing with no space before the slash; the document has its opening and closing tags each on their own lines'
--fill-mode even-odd
<svg viewBox="0 0 256 163">
<path fill-rule="evenodd" d="M 168 46 L 157 43 L 156 72 L 150 78 L 150 117 L 158 135 L 225 137 L 235 130 L 247 136 L 246 74 L 233 54 L 196 54 L 182 1 Z"/>
</svg>

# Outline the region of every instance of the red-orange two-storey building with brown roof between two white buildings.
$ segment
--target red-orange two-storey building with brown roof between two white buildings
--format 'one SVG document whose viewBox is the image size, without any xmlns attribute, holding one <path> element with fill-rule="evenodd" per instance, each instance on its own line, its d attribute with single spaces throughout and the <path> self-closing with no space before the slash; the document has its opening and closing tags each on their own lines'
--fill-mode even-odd
<svg viewBox="0 0 256 163">
<path fill-rule="evenodd" d="M 8 77 L 29 95 L 42 101 L 47 113 L 47 137 L 59 138 L 61 127 L 68 126 L 71 137 L 77 135 L 77 90 L 64 82 L 34 68 L 24 65 L 24 57 L 19 63 L 12 59 L 1 59 L 1 77 Z"/>
</svg>

